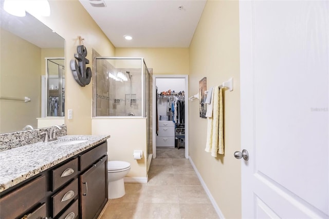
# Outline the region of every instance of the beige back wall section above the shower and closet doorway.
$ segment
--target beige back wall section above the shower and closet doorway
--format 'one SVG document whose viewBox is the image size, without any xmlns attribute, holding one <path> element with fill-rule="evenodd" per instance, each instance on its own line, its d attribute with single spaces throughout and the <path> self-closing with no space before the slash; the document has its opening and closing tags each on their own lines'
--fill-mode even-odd
<svg viewBox="0 0 329 219">
<path fill-rule="evenodd" d="M 116 57 L 144 58 L 153 75 L 188 75 L 188 48 L 116 48 Z"/>
</svg>

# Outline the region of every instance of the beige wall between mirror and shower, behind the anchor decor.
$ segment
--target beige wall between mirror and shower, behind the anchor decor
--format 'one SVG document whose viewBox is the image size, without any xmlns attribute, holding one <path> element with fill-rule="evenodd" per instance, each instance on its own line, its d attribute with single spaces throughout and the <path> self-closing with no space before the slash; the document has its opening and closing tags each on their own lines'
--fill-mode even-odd
<svg viewBox="0 0 329 219">
<path fill-rule="evenodd" d="M 92 134 L 92 82 L 81 87 L 72 76 L 70 60 L 77 53 L 78 36 L 84 39 L 88 51 L 90 64 L 87 67 L 92 66 L 92 48 L 108 57 L 114 56 L 115 48 L 78 0 L 49 1 L 49 4 L 50 16 L 38 19 L 65 39 L 65 113 L 67 109 L 73 110 L 73 119 L 65 117 L 67 134 Z"/>
</svg>

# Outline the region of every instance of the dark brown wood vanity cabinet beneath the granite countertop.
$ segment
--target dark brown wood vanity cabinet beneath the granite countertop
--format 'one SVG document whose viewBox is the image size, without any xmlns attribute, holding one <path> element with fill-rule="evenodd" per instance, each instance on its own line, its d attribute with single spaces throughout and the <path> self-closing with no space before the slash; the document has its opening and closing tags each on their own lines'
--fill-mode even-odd
<svg viewBox="0 0 329 219">
<path fill-rule="evenodd" d="M 107 197 L 107 142 L 0 193 L 0 219 L 97 218 Z"/>
</svg>

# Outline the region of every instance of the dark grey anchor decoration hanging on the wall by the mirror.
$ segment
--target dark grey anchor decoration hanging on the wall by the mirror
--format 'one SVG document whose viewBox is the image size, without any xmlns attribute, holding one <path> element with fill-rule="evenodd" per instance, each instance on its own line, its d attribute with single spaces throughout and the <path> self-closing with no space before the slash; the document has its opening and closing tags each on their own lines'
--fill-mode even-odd
<svg viewBox="0 0 329 219">
<path fill-rule="evenodd" d="M 74 57 L 78 60 L 79 64 L 76 60 L 72 59 L 70 66 L 74 79 L 80 84 L 80 86 L 84 87 L 89 84 L 92 79 L 92 69 L 86 67 L 86 64 L 89 64 L 89 60 L 86 59 L 86 47 L 84 45 L 77 46 L 77 51 L 78 53 L 75 53 Z"/>
</svg>

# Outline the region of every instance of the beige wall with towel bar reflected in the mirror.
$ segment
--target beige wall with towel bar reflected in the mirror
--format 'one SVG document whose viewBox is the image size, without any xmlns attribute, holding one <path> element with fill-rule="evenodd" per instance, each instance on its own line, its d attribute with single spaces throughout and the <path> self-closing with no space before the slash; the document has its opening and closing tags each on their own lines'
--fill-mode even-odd
<svg viewBox="0 0 329 219">
<path fill-rule="evenodd" d="M 41 101 L 41 48 L 1 29 L 0 96 L 31 102 L 0 101 L 0 133 L 36 128 Z"/>
</svg>

